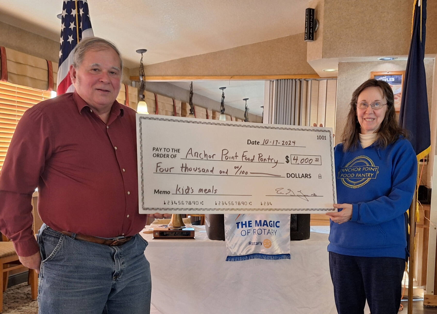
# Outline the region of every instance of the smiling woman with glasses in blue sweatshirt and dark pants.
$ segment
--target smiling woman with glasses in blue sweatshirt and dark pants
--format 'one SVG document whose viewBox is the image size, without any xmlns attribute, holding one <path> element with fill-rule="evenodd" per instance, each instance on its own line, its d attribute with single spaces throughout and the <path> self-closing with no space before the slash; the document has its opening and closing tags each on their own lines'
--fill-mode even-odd
<svg viewBox="0 0 437 314">
<path fill-rule="evenodd" d="M 339 211 L 327 214 L 337 311 L 362 314 L 367 299 L 372 314 L 396 314 L 417 161 L 388 83 L 369 79 L 354 91 L 342 141 L 334 150 Z"/>
</svg>

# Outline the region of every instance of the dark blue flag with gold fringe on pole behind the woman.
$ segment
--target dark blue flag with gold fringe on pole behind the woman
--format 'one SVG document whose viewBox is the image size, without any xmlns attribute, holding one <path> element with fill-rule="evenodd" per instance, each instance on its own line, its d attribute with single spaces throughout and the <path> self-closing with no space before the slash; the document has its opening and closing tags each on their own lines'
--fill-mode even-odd
<svg viewBox="0 0 437 314">
<path fill-rule="evenodd" d="M 416 151 L 418 161 L 430 152 L 431 147 L 427 80 L 423 64 L 426 23 L 427 0 L 415 0 L 411 45 L 402 90 L 399 123 L 411 132 L 410 142 Z"/>
</svg>

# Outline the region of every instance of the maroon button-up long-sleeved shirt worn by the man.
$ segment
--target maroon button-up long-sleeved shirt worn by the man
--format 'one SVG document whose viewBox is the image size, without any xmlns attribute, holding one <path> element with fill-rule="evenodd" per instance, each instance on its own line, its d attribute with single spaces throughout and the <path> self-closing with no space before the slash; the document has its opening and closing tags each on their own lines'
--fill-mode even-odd
<svg viewBox="0 0 437 314">
<path fill-rule="evenodd" d="M 111 238 L 135 235 L 138 213 L 135 110 L 114 102 L 105 124 L 75 93 L 28 109 L 0 173 L 0 230 L 18 255 L 38 252 L 31 196 L 57 231 Z"/>
</svg>

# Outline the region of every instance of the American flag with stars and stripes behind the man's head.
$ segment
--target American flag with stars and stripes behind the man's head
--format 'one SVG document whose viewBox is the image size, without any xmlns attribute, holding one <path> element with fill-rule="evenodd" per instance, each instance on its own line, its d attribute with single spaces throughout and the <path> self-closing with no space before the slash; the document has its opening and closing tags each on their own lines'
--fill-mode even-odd
<svg viewBox="0 0 437 314">
<path fill-rule="evenodd" d="M 63 2 L 56 89 L 58 95 L 74 91 L 69 76 L 69 67 L 73 64 L 72 52 L 82 38 L 94 36 L 87 0 L 63 0 Z"/>
</svg>

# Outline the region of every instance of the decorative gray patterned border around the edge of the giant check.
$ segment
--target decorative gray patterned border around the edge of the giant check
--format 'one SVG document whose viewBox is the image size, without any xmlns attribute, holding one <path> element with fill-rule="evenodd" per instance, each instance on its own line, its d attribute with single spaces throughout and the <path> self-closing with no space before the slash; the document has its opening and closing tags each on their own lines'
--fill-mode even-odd
<svg viewBox="0 0 437 314">
<path fill-rule="evenodd" d="M 320 130 L 320 129 L 314 129 L 314 128 L 295 128 L 295 127 L 286 127 L 286 126 L 272 126 L 271 124 L 239 124 L 235 122 L 226 122 L 226 121 L 220 121 L 216 122 L 216 120 L 205 120 L 205 119 L 196 119 L 196 120 L 185 120 L 185 119 L 177 119 L 177 118 L 170 118 L 170 117 L 164 117 L 164 116 L 153 116 L 153 115 L 141 115 L 139 117 L 139 155 L 140 155 L 140 176 L 141 176 L 141 208 L 143 211 L 150 211 L 150 210 L 172 210 L 172 211 L 181 211 L 181 212 L 191 212 L 191 211 L 199 211 L 201 210 L 208 210 L 209 212 L 212 211 L 236 211 L 241 212 L 244 211 L 266 211 L 266 212 L 273 212 L 273 211 L 285 211 L 285 212 L 296 212 L 296 211 L 308 211 L 308 212 L 314 212 L 314 211 L 336 211 L 335 208 L 170 208 L 170 207 L 144 207 L 144 168 L 143 168 L 143 156 L 142 156 L 142 121 L 143 120 L 155 120 L 155 121 L 169 121 L 169 122 L 176 122 L 176 123 L 189 123 L 189 124 L 210 124 L 210 125 L 220 125 L 220 126 L 228 126 L 228 127 L 236 127 L 236 128 L 258 128 L 258 129 L 274 129 L 274 130 L 288 130 L 288 131 L 310 131 L 310 132 L 325 132 L 329 134 L 329 154 L 331 155 L 331 181 L 332 181 L 332 200 L 333 204 L 336 202 L 335 200 L 335 174 L 334 174 L 334 155 L 333 155 L 333 142 L 332 142 L 332 134 L 330 130 Z"/>
</svg>

